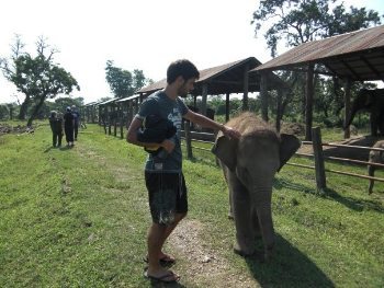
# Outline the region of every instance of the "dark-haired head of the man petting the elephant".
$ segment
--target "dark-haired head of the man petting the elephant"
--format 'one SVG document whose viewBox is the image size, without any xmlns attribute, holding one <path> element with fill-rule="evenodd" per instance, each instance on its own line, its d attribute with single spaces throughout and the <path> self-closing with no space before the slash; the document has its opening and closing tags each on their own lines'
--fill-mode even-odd
<svg viewBox="0 0 384 288">
<path fill-rule="evenodd" d="M 182 97 L 193 90 L 193 84 L 199 77 L 197 68 L 187 59 L 177 60 L 167 69 L 167 83 L 176 85 L 179 96 Z"/>
</svg>

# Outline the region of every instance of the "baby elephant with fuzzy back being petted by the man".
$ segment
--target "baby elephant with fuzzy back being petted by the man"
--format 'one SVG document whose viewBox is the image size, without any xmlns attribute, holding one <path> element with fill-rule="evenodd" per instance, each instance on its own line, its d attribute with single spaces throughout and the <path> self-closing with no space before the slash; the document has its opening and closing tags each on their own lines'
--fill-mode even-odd
<svg viewBox="0 0 384 288">
<path fill-rule="evenodd" d="M 273 177 L 301 141 L 292 135 L 279 135 L 251 113 L 244 113 L 226 125 L 237 129 L 241 137 L 228 139 L 219 133 L 212 151 L 221 162 L 229 188 L 236 227 L 234 251 L 241 256 L 255 254 L 255 239 L 261 234 L 263 260 L 269 261 L 274 245 Z"/>
</svg>

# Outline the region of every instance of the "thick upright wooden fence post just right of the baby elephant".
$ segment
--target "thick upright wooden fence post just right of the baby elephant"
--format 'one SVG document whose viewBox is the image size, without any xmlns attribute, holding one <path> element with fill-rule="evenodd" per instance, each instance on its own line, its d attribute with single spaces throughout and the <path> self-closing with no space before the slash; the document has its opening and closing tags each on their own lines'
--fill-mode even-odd
<svg viewBox="0 0 384 288">
<path fill-rule="evenodd" d="M 312 141 L 315 155 L 316 185 L 318 189 L 325 189 L 327 187 L 327 183 L 324 166 L 320 127 L 315 127 L 312 129 Z"/>
</svg>

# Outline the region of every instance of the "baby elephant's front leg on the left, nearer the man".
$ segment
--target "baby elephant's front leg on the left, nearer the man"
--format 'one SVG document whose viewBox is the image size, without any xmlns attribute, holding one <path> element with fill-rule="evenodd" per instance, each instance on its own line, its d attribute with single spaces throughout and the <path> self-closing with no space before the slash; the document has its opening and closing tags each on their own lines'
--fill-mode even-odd
<svg viewBox="0 0 384 288">
<path fill-rule="evenodd" d="M 234 173 L 229 174 L 229 183 L 236 227 L 234 251 L 242 256 L 248 256 L 255 253 L 255 233 L 249 193 Z"/>
</svg>

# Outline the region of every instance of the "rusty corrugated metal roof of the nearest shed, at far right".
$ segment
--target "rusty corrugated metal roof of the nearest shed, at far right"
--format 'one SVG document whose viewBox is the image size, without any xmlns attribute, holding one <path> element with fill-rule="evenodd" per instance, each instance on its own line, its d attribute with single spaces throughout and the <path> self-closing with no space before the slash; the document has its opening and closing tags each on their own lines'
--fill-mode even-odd
<svg viewBox="0 0 384 288">
<path fill-rule="evenodd" d="M 384 25 L 304 43 L 255 70 L 279 70 L 308 62 L 352 80 L 384 79 Z"/>
</svg>

